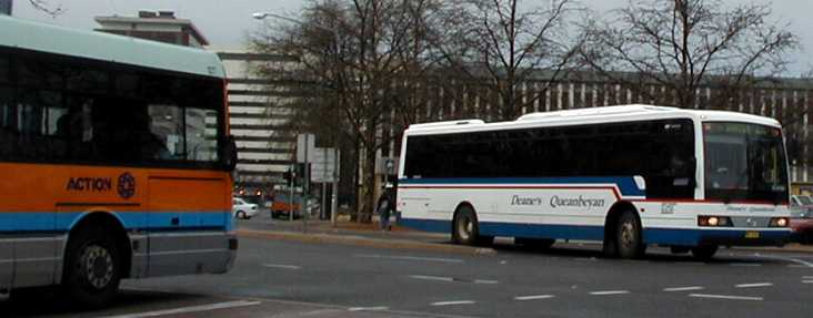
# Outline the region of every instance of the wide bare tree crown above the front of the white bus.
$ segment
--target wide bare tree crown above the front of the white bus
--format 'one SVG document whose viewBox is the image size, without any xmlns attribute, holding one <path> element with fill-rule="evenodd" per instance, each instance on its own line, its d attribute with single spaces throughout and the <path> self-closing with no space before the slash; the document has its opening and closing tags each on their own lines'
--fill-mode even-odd
<svg viewBox="0 0 813 318">
<path fill-rule="evenodd" d="M 720 0 L 630 1 L 609 22 L 588 23 L 581 58 L 593 71 L 645 100 L 680 107 L 725 107 L 760 78 L 784 70 L 797 39 L 771 22 L 770 4 Z M 652 90 L 665 88 L 666 94 Z M 715 88 L 716 105 L 697 92 Z"/>
</svg>

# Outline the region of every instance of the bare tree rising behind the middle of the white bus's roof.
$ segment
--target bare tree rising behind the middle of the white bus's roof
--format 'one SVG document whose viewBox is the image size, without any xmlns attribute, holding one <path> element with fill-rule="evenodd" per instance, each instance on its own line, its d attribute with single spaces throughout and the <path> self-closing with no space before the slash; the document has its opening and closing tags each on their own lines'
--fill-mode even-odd
<svg viewBox="0 0 813 318">
<path fill-rule="evenodd" d="M 461 0 L 449 6 L 449 29 L 435 38 L 435 52 L 471 80 L 488 83 L 499 95 L 493 115 L 513 120 L 541 94 L 525 95 L 522 85 L 541 73 L 542 94 L 566 74 L 583 37 L 569 34 L 569 18 L 581 11 L 570 0 L 544 1 L 526 9 L 520 0 Z"/>
</svg>

